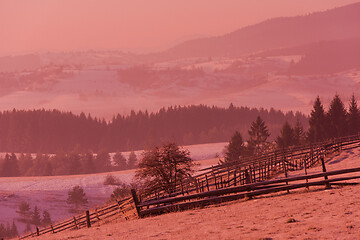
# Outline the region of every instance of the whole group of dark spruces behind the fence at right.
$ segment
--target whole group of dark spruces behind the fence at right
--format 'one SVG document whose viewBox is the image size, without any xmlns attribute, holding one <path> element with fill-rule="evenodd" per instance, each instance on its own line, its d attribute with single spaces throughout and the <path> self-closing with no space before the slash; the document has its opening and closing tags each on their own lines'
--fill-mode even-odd
<svg viewBox="0 0 360 240">
<path fill-rule="evenodd" d="M 285 121 L 275 141 L 268 141 L 271 133 L 265 121 L 258 117 L 251 124 L 247 141 L 243 140 L 241 133 L 235 131 L 224 149 L 224 161 L 237 161 L 275 149 L 359 134 L 360 109 L 355 96 L 351 97 L 349 107 L 346 109 L 339 95 L 335 95 L 327 111 L 325 111 L 320 97 L 317 97 L 310 114 L 309 126 L 306 131 L 300 121 L 296 121 L 294 125 Z"/>
</svg>

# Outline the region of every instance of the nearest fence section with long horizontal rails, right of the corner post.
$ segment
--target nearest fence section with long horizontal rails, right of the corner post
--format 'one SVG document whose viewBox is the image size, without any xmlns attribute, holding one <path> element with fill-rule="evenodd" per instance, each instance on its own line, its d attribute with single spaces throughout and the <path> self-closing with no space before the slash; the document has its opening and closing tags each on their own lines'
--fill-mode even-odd
<svg viewBox="0 0 360 240">
<path fill-rule="evenodd" d="M 326 171 L 326 169 L 323 168 Z M 330 188 L 331 184 L 360 178 L 360 168 L 350 168 L 336 171 L 329 171 L 311 175 L 287 177 L 282 179 L 268 180 L 257 183 L 232 186 L 217 190 L 200 192 L 184 196 L 168 197 L 159 200 L 136 201 L 136 208 L 140 217 L 161 214 L 164 212 L 185 210 L 196 206 L 204 206 L 219 202 L 233 201 L 242 198 L 252 198 L 269 193 L 290 191 L 298 188 L 309 188 L 310 186 L 325 186 Z M 358 173 L 355 176 L 341 176 L 329 179 L 329 176 L 339 176 L 349 173 Z M 309 181 L 315 179 L 315 181 Z M 299 181 L 305 181 L 300 182 Z M 294 182 L 294 184 L 290 184 Z M 134 197 L 137 199 L 137 197 Z"/>
</svg>

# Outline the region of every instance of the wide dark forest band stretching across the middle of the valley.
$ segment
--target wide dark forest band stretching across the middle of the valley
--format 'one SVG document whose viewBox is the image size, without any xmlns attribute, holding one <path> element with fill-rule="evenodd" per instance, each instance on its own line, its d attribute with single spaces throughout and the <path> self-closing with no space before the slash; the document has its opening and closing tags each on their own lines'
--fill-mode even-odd
<svg viewBox="0 0 360 240">
<path fill-rule="evenodd" d="M 271 131 L 279 134 L 283 122 L 308 119 L 297 112 L 248 107 L 205 105 L 162 108 L 156 113 L 132 111 L 111 121 L 84 113 L 58 110 L 13 110 L 0 113 L 1 152 L 116 152 L 145 149 L 166 141 L 199 144 L 227 141 L 235 130 L 246 135 L 250 123 L 261 116 Z"/>
</svg>

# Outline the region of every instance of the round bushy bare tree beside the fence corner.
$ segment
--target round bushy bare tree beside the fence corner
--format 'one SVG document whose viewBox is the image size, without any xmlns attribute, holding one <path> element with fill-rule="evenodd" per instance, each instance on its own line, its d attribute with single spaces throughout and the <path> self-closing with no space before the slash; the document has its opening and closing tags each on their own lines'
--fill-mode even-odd
<svg viewBox="0 0 360 240">
<path fill-rule="evenodd" d="M 172 193 L 176 185 L 193 173 L 196 165 L 188 150 L 182 150 L 175 143 L 155 147 L 143 153 L 136 170 L 136 180 L 145 194 L 159 190 Z"/>
</svg>

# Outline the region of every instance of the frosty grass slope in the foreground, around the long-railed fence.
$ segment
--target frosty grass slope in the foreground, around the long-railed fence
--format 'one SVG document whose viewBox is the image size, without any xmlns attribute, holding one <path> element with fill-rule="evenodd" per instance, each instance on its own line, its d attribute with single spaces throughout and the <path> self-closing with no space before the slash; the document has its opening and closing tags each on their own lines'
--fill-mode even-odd
<svg viewBox="0 0 360 240">
<path fill-rule="evenodd" d="M 326 165 L 329 170 L 359 167 L 360 149 L 335 154 Z M 321 167 L 310 170 L 321 171 Z M 39 239 L 360 239 L 360 186 L 323 189 L 310 187 L 204 209 L 115 221 Z"/>
</svg>

